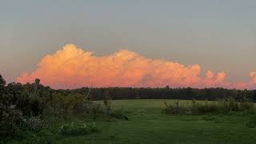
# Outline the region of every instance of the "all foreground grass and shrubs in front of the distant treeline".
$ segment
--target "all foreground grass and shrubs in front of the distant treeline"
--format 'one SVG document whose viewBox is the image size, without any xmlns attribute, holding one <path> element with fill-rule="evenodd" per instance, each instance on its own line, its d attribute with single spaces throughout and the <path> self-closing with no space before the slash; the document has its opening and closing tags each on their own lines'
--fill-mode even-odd
<svg viewBox="0 0 256 144">
<path fill-rule="evenodd" d="M 250 98 L 217 101 L 111 100 L 51 90 L 39 84 L 0 84 L 0 143 L 255 143 Z"/>
</svg>

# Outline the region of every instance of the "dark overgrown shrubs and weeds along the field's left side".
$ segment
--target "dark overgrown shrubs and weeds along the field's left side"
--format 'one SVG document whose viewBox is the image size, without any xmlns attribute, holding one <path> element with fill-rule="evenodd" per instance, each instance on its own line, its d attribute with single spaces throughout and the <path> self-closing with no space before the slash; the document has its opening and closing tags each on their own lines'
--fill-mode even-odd
<svg viewBox="0 0 256 144">
<path fill-rule="evenodd" d="M 98 131 L 93 122 L 96 119 L 127 119 L 122 111 L 111 110 L 111 98 L 107 92 L 104 95 L 104 103 L 96 104 L 90 100 L 90 91 L 84 95 L 61 94 L 50 87 L 40 85 L 39 82 L 40 80 L 36 79 L 32 84 L 10 83 L 6 86 L 0 75 L 0 142 L 27 136 L 33 138 L 35 134 L 45 138 L 51 127 L 50 123 L 59 120 L 64 123 L 58 128 L 55 127 L 57 131 L 50 135 L 92 134 Z M 73 118 L 81 122 L 72 122 Z M 41 142 L 41 139 L 29 140 L 35 143 L 38 141 Z"/>
</svg>

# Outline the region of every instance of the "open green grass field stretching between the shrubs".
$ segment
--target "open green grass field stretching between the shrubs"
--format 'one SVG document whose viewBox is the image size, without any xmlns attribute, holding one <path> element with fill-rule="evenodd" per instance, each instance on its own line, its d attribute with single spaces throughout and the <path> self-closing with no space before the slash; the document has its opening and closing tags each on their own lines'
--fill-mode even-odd
<svg viewBox="0 0 256 144">
<path fill-rule="evenodd" d="M 100 102 L 100 101 L 98 101 Z M 256 128 L 248 128 L 246 122 L 250 114 L 230 115 L 184 115 L 173 116 L 162 114 L 163 102 L 176 100 L 115 100 L 114 109 L 122 107 L 128 111 L 128 121 L 113 122 L 97 121 L 99 132 L 74 137 L 52 135 L 48 132 L 40 139 L 50 139 L 53 143 L 256 143 Z M 191 101 L 180 101 L 188 105 Z M 66 121 L 65 121 L 66 122 Z M 52 132 L 65 122 L 51 122 Z M 72 120 L 72 122 L 80 122 Z M 34 142 L 33 142 L 34 141 Z M 33 138 L 23 140 L 23 143 L 38 143 Z M 20 143 L 20 142 L 10 142 Z"/>
</svg>

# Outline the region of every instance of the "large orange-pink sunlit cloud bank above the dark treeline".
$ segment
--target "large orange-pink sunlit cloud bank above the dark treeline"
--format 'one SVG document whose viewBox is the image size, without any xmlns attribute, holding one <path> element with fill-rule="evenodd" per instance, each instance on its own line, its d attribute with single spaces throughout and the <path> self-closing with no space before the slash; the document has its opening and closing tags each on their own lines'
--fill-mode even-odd
<svg viewBox="0 0 256 144">
<path fill-rule="evenodd" d="M 78 88 L 82 86 L 173 86 L 246 88 L 246 83 L 225 82 L 226 73 L 216 75 L 208 70 L 200 77 L 198 64 L 184 66 L 178 62 L 145 58 L 129 50 L 97 57 L 73 44 L 63 47 L 53 55 L 46 55 L 32 73 L 24 73 L 17 82 L 42 83 L 53 88 Z M 251 83 L 256 83 L 256 74 L 251 73 Z"/>
</svg>

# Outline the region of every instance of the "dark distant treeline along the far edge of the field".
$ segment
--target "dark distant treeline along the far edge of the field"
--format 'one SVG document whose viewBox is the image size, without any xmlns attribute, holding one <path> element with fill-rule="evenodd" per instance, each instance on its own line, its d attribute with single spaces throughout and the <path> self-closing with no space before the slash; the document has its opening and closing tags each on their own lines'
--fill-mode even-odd
<svg viewBox="0 0 256 144">
<path fill-rule="evenodd" d="M 228 90 L 223 88 L 131 88 L 131 87 L 110 87 L 110 88 L 81 88 L 76 90 L 57 90 L 60 93 L 86 94 L 94 100 L 101 100 L 105 91 L 108 91 L 112 99 L 197 99 L 217 100 L 223 98 L 235 98 L 238 102 L 256 102 L 256 90 Z"/>
</svg>

